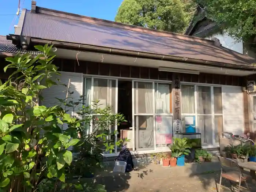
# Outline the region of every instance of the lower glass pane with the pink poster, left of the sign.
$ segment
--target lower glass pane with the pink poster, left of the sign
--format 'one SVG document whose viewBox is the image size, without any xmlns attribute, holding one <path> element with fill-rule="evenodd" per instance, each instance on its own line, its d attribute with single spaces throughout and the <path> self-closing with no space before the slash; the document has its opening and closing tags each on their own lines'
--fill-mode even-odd
<svg viewBox="0 0 256 192">
<path fill-rule="evenodd" d="M 156 116 L 156 137 L 157 147 L 169 146 L 172 143 L 172 117 L 170 116 Z"/>
</svg>

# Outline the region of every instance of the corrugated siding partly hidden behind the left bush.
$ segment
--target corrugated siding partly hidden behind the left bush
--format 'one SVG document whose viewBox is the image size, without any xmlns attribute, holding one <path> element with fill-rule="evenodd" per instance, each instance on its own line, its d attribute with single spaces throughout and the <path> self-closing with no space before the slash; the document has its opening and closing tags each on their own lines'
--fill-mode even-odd
<svg viewBox="0 0 256 192">
<path fill-rule="evenodd" d="M 61 83 L 66 84 L 68 86 L 68 81 L 70 79 L 69 92 L 74 92 L 72 94 L 72 99 L 68 99 L 68 101 L 72 100 L 73 102 L 78 102 L 80 96 L 83 94 L 83 80 L 82 74 L 80 73 L 71 73 L 71 72 L 61 72 L 61 76 L 57 76 L 61 80 Z M 44 97 L 44 101 L 41 102 L 41 105 L 45 105 L 46 107 L 51 107 L 55 105 L 60 105 L 60 102 L 56 99 L 65 99 L 67 94 L 67 87 L 63 85 L 52 86 L 50 89 L 45 89 L 42 91 L 42 96 Z M 64 106 L 63 106 L 64 108 Z M 79 107 L 76 107 L 76 112 Z M 72 109 L 66 108 L 69 110 L 67 113 L 71 114 Z M 63 125 L 63 129 L 66 129 L 67 125 Z"/>
</svg>

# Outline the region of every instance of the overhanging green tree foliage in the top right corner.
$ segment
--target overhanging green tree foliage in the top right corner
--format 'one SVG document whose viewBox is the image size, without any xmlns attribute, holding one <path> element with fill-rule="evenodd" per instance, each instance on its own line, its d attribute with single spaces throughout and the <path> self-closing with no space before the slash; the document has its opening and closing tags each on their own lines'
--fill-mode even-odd
<svg viewBox="0 0 256 192">
<path fill-rule="evenodd" d="M 256 36 L 255 0 L 196 0 L 206 10 L 206 16 L 237 39 Z"/>
</svg>

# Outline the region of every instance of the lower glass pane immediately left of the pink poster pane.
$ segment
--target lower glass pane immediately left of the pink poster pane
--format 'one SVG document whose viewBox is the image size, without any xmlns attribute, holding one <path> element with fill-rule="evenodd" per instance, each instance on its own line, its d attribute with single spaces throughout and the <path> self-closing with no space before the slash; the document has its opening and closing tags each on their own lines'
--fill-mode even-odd
<svg viewBox="0 0 256 192">
<path fill-rule="evenodd" d="M 135 146 L 139 150 L 154 149 L 154 121 L 153 116 L 135 116 Z"/>
</svg>

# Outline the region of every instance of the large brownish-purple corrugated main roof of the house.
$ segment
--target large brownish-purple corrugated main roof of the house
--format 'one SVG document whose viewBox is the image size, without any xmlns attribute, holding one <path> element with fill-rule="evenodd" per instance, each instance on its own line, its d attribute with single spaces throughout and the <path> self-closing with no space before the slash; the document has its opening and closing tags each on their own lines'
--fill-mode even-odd
<svg viewBox="0 0 256 192">
<path fill-rule="evenodd" d="M 105 25 L 104 21 L 90 21 L 79 16 L 71 19 L 75 16 L 54 10 L 52 12 L 45 14 L 26 10 L 22 35 L 234 65 L 249 66 L 256 63 L 255 59 L 244 54 L 189 36 L 172 33 L 163 35 L 161 31 L 145 33 L 146 30 L 129 30 L 118 23 L 110 25 L 105 22 Z"/>
</svg>

